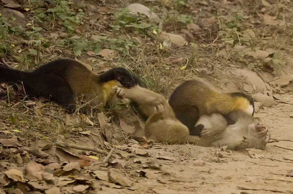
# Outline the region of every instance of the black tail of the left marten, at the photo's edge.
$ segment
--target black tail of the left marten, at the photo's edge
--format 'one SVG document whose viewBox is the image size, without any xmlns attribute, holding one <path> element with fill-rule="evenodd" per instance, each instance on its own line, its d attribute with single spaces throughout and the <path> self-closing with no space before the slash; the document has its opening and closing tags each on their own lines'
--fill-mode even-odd
<svg viewBox="0 0 293 194">
<path fill-rule="evenodd" d="M 23 81 L 28 72 L 14 70 L 0 66 L 0 83 L 17 83 Z"/>
</svg>

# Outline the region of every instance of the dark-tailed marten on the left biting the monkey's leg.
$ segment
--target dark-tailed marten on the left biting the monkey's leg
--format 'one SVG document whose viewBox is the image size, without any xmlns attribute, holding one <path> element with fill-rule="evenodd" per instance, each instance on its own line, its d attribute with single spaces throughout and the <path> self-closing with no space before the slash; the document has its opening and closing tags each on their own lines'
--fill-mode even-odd
<svg viewBox="0 0 293 194">
<path fill-rule="evenodd" d="M 82 112 L 111 104 L 116 95 L 112 87 L 131 88 L 137 80 L 125 68 L 118 67 L 95 74 L 73 59 L 58 59 L 26 72 L 0 66 L 0 83 L 21 84 L 30 97 L 45 97 L 74 112 L 77 97 L 86 102 Z"/>
</svg>

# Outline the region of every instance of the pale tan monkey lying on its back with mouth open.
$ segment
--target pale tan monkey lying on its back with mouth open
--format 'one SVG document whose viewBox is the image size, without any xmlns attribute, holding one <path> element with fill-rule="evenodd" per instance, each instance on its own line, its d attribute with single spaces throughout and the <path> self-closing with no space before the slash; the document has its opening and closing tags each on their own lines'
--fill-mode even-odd
<svg viewBox="0 0 293 194">
<path fill-rule="evenodd" d="M 264 149 L 270 139 L 265 127 L 255 127 L 253 116 L 242 110 L 233 110 L 228 116 L 235 121 L 228 125 L 221 114 L 202 115 L 196 125 L 202 125 L 201 137 L 189 135 L 186 125 L 176 119 L 171 106 L 156 92 L 134 86 L 113 87 L 119 98 L 128 98 L 137 103 L 148 119 L 145 135 L 148 139 L 167 143 L 195 143 L 202 146 L 228 145 L 229 149 L 255 147 Z M 245 137 L 245 138 L 244 138 Z"/>
</svg>

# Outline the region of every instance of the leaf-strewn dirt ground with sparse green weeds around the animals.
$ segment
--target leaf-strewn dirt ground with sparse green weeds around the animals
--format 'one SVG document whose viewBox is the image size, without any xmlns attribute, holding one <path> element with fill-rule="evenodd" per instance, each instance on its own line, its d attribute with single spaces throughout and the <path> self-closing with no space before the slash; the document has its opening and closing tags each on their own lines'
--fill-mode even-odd
<svg viewBox="0 0 293 194">
<path fill-rule="evenodd" d="M 19 99 L 1 84 L 0 194 L 292 194 L 293 3 L 138 2 L 159 21 L 145 7 L 129 15 L 123 8 L 131 3 L 1 0 L 0 65 L 32 70 L 76 57 L 97 73 L 126 67 L 166 98 L 191 77 L 263 94 L 254 117 L 271 133 L 265 150 L 133 140 L 141 125 L 125 102 L 117 126 L 103 113 L 68 114 L 43 99 Z M 159 29 L 180 37 L 156 36 Z"/>
</svg>

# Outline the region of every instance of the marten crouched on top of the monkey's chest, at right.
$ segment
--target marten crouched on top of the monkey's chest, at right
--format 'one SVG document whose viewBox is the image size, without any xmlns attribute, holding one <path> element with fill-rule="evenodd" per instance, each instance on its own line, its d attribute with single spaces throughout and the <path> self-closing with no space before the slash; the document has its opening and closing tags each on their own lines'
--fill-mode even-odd
<svg viewBox="0 0 293 194">
<path fill-rule="evenodd" d="M 168 100 L 176 118 L 188 126 L 190 135 L 200 135 L 201 129 L 195 126 L 201 115 L 219 113 L 225 116 L 228 124 L 233 124 L 228 114 L 240 109 L 253 115 L 253 99 L 244 93 L 224 93 L 212 88 L 199 78 L 189 79 L 180 84 Z"/>
</svg>

